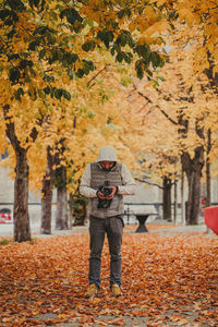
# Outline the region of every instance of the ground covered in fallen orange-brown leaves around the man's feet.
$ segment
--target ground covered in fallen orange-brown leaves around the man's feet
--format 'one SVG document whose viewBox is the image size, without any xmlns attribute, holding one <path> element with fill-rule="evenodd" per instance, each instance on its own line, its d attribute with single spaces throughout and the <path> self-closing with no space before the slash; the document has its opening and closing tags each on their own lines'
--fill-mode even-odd
<svg viewBox="0 0 218 327">
<path fill-rule="evenodd" d="M 218 239 L 125 230 L 122 296 L 87 288 L 88 234 L 0 245 L 0 326 L 217 326 Z M 150 230 L 150 228 L 149 228 Z"/>
</svg>

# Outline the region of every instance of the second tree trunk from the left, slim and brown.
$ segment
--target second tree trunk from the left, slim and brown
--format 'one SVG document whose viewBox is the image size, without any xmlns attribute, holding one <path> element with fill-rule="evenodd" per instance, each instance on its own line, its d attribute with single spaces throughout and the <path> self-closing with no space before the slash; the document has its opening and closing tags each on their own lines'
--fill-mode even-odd
<svg viewBox="0 0 218 327">
<path fill-rule="evenodd" d="M 51 206 L 52 206 L 52 173 L 53 156 L 50 153 L 50 147 L 47 148 L 47 169 L 43 180 L 41 189 L 41 234 L 51 234 Z"/>
</svg>

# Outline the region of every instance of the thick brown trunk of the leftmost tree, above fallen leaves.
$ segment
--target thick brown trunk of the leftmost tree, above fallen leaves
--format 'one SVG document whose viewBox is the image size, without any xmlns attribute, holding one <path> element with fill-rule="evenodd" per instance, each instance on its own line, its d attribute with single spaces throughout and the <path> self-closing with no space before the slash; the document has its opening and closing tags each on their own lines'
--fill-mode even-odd
<svg viewBox="0 0 218 327">
<path fill-rule="evenodd" d="M 16 177 L 14 183 L 14 241 L 25 242 L 31 240 L 28 215 L 28 165 L 27 149 L 16 147 Z"/>
</svg>

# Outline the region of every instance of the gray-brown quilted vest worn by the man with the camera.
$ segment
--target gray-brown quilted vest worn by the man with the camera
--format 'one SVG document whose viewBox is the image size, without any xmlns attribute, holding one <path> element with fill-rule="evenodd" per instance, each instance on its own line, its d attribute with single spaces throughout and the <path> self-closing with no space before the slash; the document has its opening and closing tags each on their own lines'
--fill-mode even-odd
<svg viewBox="0 0 218 327">
<path fill-rule="evenodd" d="M 110 185 L 119 186 L 122 185 L 122 175 L 121 175 L 122 165 L 117 162 L 116 166 L 106 171 L 100 168 L 98 162 L 90 164 L 90 187 L 96 191 L 100 185 L 105 183 L 105 181 L 109 181 Z M 98 208 L 98 197 L 94 197 L 89 199 L 89 214 L 97 218 L 107 218 L 113 217 L 118 215 L 123 215 L 124 205 L 123 205 L 123 195 L 116 194 L 112 198 L 111 205 L 109 208 Z"/>
</svg>

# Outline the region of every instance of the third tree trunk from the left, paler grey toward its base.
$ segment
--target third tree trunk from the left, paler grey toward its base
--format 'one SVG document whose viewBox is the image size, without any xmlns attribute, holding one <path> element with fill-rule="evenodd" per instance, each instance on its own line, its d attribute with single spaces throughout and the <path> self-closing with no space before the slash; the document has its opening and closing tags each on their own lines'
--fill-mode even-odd
<svg viewBox="0 0 218 327">
<path fill-rule="evenodd" d="M 66 196 L 66 171 L 65 167 L 59 168 L 59 178 L 62 183 L 57 187 L 57 213 L 56 213 L 56 229 L 69 229 L 68 226 L 68 196 Z"/>
</svg>

